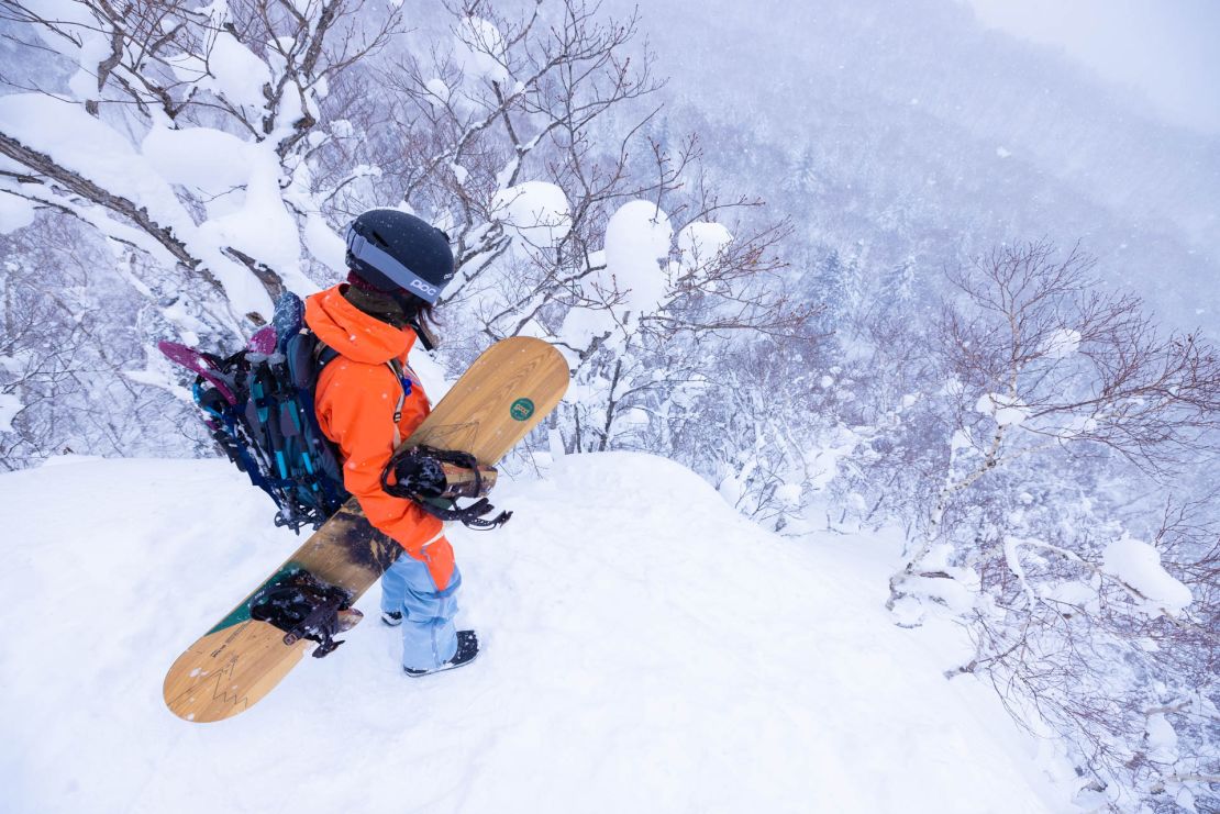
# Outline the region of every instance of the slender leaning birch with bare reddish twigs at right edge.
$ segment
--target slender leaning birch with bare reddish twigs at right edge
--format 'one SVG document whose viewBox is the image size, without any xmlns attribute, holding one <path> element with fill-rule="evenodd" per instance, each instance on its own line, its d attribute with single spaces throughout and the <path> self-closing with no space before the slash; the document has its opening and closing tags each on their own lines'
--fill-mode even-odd
<svg viewBox="0 0 1220 814">
<path fill-rule="evenodd" d="M 1155 474 L 1215 452 L 1220 356 L 1193 334 L 1160 335 L 1137 299 L 1099 292 L 1092 266 L 1038 242 L 950 275 L 960 296 L 933 349 L 953 403 L 948 469 L 892 604 L 927 570 L 954 501 L 1005 463 L 1086 446 Z"/>
</svg>

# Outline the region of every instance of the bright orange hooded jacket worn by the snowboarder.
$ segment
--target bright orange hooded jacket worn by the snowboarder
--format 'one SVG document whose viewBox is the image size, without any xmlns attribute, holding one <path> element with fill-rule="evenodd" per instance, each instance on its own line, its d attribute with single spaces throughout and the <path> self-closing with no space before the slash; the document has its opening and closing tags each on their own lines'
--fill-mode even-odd
<svg viewBox="0 0 1220 814">
<path fill-rule="evenodd" d="M 453 575 L 453 550 L 442 535 L 443 524 L 414 501 L 387 495 L 381 485 L 382 469 L 399 440 L 431 411 L 423 388 L 406 367 L 415 331 L 370 317 L 343 297 L 342 288 L 305 300 L 305 323 L 339 352 L 318 375 L 314 391 L 317 422 L 339 446 L 343 485 L 360 501 L 368 522 L 426 562 L 437 587 L 444 590 Z M 390 359 L 403 366 L 406 381 L 395 380 L 387 364 Z M 404 388 L 409 392 L 395 428 L 394 408 Z"/>
</svg>

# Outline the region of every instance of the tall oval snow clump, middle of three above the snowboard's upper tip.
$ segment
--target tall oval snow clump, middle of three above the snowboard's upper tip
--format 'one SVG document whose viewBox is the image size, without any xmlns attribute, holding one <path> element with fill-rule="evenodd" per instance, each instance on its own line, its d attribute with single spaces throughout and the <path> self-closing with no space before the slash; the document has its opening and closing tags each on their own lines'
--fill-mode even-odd
<svg viewBox="0 0 1220 814">
<path fill-rule="evenodd" d="M 656 311 L 670 280 L 666 258 L 673 227 L 665 212 L 649 201 L 630 201 L 606 224 L 605 288 L 623 292 L 623 308 L 636 317 Z"/>
</svg>

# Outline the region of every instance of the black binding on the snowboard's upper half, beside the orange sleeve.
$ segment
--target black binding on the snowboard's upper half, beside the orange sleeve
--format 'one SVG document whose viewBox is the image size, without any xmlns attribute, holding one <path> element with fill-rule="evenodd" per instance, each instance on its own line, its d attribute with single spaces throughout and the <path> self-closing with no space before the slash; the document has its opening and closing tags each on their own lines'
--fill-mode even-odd
<svg viewBox="0 0 1220 814">
<path fill-rule="evenodd" d="M 512 512 L 484 517 L 495 509 L 487 500 L 495 476 L 495 467 L 479 464 L 468 452 L 415 446 L 390 457 L 382 470 L 382 489 L 394 497 L 415 501 L 442 520 L 458 520 L 471 529 L 494 529 L 512 517 Z M 459 507 L 458 498 L 475 502 Z"/>
</svg>

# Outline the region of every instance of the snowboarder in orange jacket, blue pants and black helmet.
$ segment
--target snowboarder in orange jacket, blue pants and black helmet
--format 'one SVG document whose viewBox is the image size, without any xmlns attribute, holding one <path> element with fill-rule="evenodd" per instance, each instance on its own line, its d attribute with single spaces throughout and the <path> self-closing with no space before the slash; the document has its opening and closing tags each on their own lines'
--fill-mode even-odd
<svg viewBox="0 0 1220 814">
<path fill-rule="evenodd" d="M 318 375 L 317 420 L 339 447 L 344 486 L 405 550 L 382 578 L 382 621 L 401 626 L 403 669 L 420 676 L 478 653 L 475 632 L 454 626 L 461 573 L 442 522 L 382 486 L 394 448 L 431 409 L 406 358 L 417 340 L 432 346 L 432 307 L 453 279 L 453 251 L 420 218 L 371 210 L 348 228 L 346 262 L 346 283 L 305 302 L 306 324 L 339 355 Z"/>
</svg>

